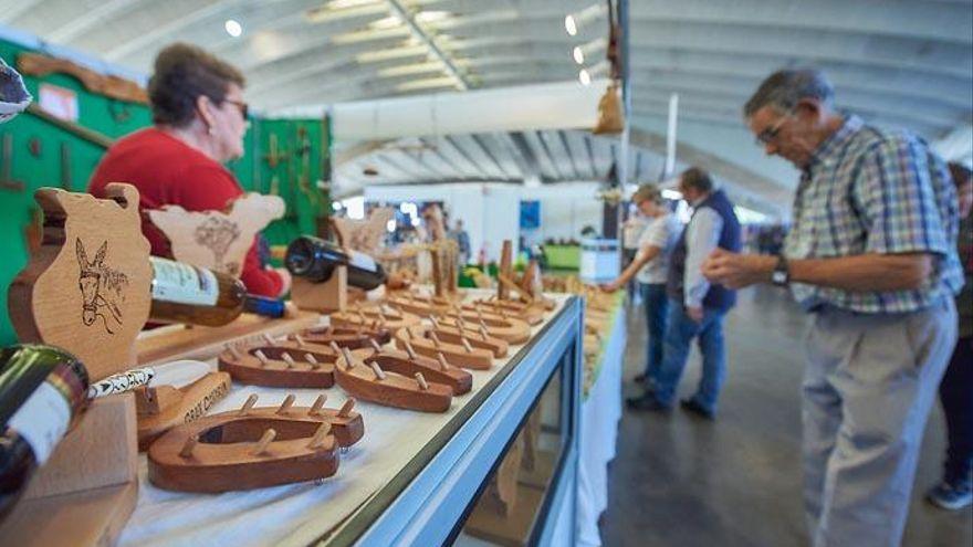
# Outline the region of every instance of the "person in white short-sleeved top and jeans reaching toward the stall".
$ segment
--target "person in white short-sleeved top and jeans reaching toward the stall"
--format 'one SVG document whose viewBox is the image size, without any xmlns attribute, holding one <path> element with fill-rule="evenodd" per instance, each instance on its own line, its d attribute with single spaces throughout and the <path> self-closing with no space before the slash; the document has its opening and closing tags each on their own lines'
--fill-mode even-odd
<svg viewBox="0 0 973 547">
<path fill-rule="evenodd" d="M 662 337 L 666 335 L 666 315 L 669 311 L 669 299 L 666 296 L 669 255 L 682 232 L 682 225 L 676 215 L 669 212 L 662 192 L 655 185 L 640 186 L 631 196 L 631 202 L 650 222 L 639 234 L 631 263 L 618 278 L 601 285 L 601 290 L 615 292 L 628 286 L 632 278 L 638 280 L 642 305 L 646 308 L 649 339 L 646 348 L 646 368 L 636 377 L 636 381 L 645 383 L 646 392 L 650 393 L 655 389 L 659 367 L 662 365 Z M 641 398 L 630 401 L 638 406 L 640 404 L 638 399 Z"/>
</svg>

